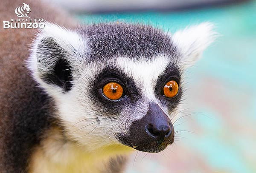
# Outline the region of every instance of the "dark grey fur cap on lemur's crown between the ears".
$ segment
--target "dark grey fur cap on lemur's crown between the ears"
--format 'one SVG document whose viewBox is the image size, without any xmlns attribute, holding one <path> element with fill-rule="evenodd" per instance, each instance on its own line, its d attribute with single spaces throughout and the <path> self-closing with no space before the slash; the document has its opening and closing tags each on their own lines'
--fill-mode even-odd
<svg viewBox="0 0 256 173">
<path fill-rule="evenodd" d="M 88 39 L 90 60 L 123 56 L 151 60 L 157 55 L 177 56 L 171 37 L 152 26 L 128 23 L 101 23 L 84 26 L 79 33 Z"/>
</svg>

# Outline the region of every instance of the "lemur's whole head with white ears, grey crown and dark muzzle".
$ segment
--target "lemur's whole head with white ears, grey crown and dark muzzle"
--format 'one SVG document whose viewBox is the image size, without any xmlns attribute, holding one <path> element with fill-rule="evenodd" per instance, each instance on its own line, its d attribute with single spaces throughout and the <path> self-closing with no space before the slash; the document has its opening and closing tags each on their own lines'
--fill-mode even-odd
<svg viewBox="0 0 256 173">
<path fill-rule="evenodd" d="M 55 100 L 70 140 L 89 150 L 125 145 L 157 153 L 174 142 L 183 71 L 212 42 L 211 29 L 202 23 L 169 34 L 108 23 L 71 31 L 48 23 L 29 68 Z"/>
</svg>

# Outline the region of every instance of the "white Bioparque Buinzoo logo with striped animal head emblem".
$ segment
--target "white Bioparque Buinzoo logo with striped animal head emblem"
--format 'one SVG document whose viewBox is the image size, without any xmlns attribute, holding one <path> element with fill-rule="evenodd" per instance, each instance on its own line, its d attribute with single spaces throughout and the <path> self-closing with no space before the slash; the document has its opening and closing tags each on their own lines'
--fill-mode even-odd
<svg viewBox="0 0 256 173">
<path fill-rule="evenodd" d="M 31 9 L 29 4 L 22 3 L 15 9 L 15 14 L 17 17 L 27 17 L 27 18 L 17 18 L 11 19 L 9 21 L 3 21 L 3 28 L 44 28 L 44 19 L 31 19 L 28 14 Z M 28 19 L 29 18 L 29 19 Z"/>
</svg>

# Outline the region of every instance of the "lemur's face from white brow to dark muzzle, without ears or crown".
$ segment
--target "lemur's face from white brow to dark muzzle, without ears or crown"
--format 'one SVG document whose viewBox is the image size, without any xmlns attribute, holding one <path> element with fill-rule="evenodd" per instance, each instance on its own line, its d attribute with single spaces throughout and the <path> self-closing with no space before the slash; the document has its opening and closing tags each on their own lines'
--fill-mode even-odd
<svg viewBox="0 0 256 173">
<path fill-rule="evenodd" d="M 84 71 L 77 92 L 86 86 L 79 98 L 88 97 L 82 102 L 94 106 L 108 137 L 137 150 L 159 152 L 174 141 L 171 117 L 182 95 L 177 63 L 167 56 L 92 62 L 88 69 L 93 76 L 85 81 L 90 73 Z"/>
</svg>

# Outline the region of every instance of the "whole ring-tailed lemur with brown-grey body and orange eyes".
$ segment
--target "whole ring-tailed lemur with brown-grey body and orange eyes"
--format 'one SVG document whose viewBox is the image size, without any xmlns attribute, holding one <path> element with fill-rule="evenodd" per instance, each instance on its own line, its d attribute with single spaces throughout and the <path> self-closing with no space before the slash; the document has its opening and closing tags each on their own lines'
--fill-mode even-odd
<svg viewBox="0 0 256 173">
<path fill-rule="evenodd" d="M 174 34 L 46 23 L 28 50 L 35 31 L 10 30 L 0 34 L 1 173 L 117 173 L 131 150 L 164 150 L 183 71 L 214 34 L 209 23 Z"/>
</svg>

